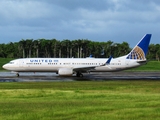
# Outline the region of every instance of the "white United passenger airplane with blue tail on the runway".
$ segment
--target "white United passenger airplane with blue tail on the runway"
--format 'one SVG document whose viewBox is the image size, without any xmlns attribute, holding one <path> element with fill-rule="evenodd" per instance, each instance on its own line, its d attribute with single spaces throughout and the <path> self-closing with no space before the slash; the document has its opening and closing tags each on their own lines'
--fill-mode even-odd
<svg viewBox="0 0 160 120">
<path fill-rule="evenodd" d="M 87 72 L 114 72 L 146 64 L 152 34 L 145 34 L 129 54 L 117 58 L 19 58 L 2 67 L 19 72 L 56 72 L 59 76 L 83 77 Z"/>
</svg>

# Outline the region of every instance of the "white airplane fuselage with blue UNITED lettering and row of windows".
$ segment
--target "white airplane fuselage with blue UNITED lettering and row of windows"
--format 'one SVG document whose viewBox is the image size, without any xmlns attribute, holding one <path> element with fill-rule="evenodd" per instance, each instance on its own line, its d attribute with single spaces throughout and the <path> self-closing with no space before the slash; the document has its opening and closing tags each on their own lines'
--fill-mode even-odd
<svg viewBox="0 0 160 120">
<path fill-rule="evenodd" d="M 74 71 L 111 72 L 129 69 L 141 65 L 137 60 L 119 57 L 110 64 L 103 65 L 108 58 L 22 58 L 13 60 L 3 68 L 15 72 L 58 72 L 60 68 Z M 92 68 L 93 67 L 93 68 Z"/>
</svg>

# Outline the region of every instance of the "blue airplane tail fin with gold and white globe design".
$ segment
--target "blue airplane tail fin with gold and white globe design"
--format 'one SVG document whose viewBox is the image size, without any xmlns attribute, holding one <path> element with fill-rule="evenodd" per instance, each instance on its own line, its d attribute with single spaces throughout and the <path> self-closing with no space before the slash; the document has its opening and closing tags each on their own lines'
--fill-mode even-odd
<svg viewBox="0 0 160 120">
<path fill-rule="evenodd" d="M 144 37 L 138 42 L 138 44 L 127 55 L 126 59 L 146 60 L 146 55 L 148 52 L 148 47 L 149 47 L 151 36 L 152 34 L 144 35 Z"/>
</svg>

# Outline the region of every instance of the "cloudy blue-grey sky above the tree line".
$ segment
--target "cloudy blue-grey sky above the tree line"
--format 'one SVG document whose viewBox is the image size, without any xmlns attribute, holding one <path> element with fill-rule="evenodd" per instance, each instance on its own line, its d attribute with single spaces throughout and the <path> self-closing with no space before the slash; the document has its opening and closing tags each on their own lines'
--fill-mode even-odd
<svg viewBox="0 0 160 120">
<path fill-rule="evenodd" d="M 22 39 L 160 44 L 160 0 L 0 0 L 0 44 Z"/>
</svg>

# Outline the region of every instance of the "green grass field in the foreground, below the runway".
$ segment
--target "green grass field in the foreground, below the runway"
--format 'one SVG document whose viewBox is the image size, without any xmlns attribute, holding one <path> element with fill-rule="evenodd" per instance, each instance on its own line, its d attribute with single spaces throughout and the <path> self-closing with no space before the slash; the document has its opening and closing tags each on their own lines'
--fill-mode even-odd
<svg viewBox="0 0 160 120">
<path fill-rule="evenodd" d="M 158 120 L 160 81 L 0 83 L 0 119 Z"/>
</svg>

